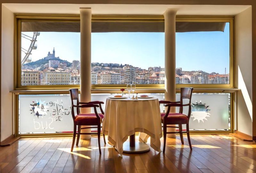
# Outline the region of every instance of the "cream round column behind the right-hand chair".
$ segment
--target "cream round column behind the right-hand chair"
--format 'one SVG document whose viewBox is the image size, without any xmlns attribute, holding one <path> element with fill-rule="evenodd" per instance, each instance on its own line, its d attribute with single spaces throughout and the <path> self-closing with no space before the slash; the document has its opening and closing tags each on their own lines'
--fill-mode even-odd
<svg viewBox="0 0 256 173">
<path fill-rule="evenodd" d="M 175 81 L 175 34 L 176 34 L 176 13 L 178 9 L 168 8 L 164 12 L 164 43 L 165 43 L 165 100 L 176 101 Z M 175 107 L 170 112 L 175 112 Z M 174 132 L 175 128 L 167 128 L 167 132 Z M 176 134 L 167 134 L 168 138 L 175 138 Z"/>
</svg>

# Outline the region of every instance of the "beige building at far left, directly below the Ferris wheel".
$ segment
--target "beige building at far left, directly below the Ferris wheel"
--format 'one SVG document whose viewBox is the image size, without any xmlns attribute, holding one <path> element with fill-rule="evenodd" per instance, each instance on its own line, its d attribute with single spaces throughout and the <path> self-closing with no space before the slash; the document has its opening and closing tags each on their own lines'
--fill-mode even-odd
<svg viewBox="0 0 256 173">
<path fill-rule="evenodd" d="M 39 85 L 40 75 L 38 70 L 21 70 L 21 85 Z"/>
</svg>

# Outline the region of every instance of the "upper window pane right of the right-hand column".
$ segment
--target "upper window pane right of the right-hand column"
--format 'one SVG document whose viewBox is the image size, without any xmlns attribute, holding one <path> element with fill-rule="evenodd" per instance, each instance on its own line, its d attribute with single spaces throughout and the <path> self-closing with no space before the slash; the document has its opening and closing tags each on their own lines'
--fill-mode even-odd
<svg viewBox="0 0 256 173">
<path fill-rule="evenodd" d="M 176 33 L 176 83 L 229 84 L 230 24 L 185 24 L 191 30 Z"/>
</svg>

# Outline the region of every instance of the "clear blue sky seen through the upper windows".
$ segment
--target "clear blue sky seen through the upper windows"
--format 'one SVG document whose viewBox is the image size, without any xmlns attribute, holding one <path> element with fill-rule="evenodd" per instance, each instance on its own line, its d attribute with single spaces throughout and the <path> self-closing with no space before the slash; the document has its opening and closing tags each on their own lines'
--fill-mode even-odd
<svg viewBox="0 0 256 173">
<path fill-rule="evenodd" d="M 23 32 L 32 36 L 32 32 Z M 30 41 L 22 40 L 28 49 Z M 80 33 L 41 32 L 32 61 L 52 53 L 72 62 L 80 59 Z M 24 54 L 22 54 L 23 58 Z M 92 62 L 131 64 L 136 67 L 164 67 L 164 33 L 162 32 L 105 32 L 92 33 Z M 229 73 L 229 24 L 224 32 L 176 33 L 176 67 L 182 70 Z"/>
</svg>

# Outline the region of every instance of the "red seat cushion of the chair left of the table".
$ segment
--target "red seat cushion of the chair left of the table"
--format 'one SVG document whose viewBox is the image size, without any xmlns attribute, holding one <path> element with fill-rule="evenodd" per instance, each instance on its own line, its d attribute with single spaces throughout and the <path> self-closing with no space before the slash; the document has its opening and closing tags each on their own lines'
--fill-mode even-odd
<svg viewBox="0 0 256 173">
<path fill-rule="evenodd" d="M 102 123 L 102 119 L 104 118 L 104 115 L 101 113 L 98 113 L 100 117 L 100 123 Z M 98 125 L 98 120 L 95 115 L 95 113 L 82 113 L 76 115 L 75 122 L 77 125 Z"/>
</svg>

